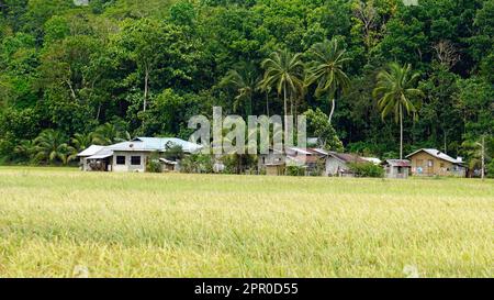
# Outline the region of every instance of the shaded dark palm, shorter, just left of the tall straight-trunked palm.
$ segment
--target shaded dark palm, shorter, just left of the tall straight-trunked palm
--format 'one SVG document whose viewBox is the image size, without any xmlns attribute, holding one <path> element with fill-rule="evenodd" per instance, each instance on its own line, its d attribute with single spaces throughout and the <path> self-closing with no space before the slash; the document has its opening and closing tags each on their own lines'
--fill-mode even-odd
<svg viewBox="0 0 494 300">
<path fill-rule="evenodd" d="M 244 63 L 228 70 L 220 82 L 221 87 L 232 87 L 236 90 L 234 111 L 245 107 L 246 115 L 252 114 L 252 96 L 256 91 L 259 76 L 252 64 Z"/>
</svg>

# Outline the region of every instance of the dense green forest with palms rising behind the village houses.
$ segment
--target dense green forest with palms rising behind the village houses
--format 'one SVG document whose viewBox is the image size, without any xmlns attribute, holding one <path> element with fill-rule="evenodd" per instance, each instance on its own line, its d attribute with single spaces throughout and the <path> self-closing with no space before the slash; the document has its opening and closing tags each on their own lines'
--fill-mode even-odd
<svg viewBox="0 0 494 300">
<path fill-rule="evenodd" d="M 401 127 L 404 154 L 493 156 L 494 0 L 0 0 L 0 15 L 3 164 L 188 138 L 213 105 L 327 118 L 310 134 L 366 156 L 398 157 Z"/>
</svg>

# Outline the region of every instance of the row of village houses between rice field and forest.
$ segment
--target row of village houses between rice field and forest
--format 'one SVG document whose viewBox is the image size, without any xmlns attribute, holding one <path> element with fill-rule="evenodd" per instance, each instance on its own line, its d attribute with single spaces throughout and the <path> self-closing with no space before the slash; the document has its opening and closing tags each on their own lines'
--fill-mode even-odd
<svg viewBox="0 0 494 300">
<path fill-rule="evenodd" d="M 180 138 L 136 137 L 109 146 L 91 145 L 78 154 L 80 167 L 85 171 L 146 171 L 149 159 L 157 159 L 164 171 L 180 171 L 180 159 L 164 158 L 164 154 L 179 146 L 183 155 L 193 155 L 203 148 L 195 143 Z M 158 158 L 153 158 L 153 155 Z M 215 171 L 222 171 L 221 157 L 215 156 Z M 288 147 L 284 152 L 270 149 L 269 154 L 257 156 L 258 174 L 268 176 L 285 175 L 291 167 L 302 170 L 306 176 L 355 177 L 351 166 L 373 164 L 384 170 L 386 178 L 407 178 L 408 176 L 454 176 L 465 177 L 465 164 L 460 157 L 452 158 L 433 149 L 418 149 L 406 159 L 360 157 L 356 154 L 336 153 L 322 148 Z"/>
</svg>

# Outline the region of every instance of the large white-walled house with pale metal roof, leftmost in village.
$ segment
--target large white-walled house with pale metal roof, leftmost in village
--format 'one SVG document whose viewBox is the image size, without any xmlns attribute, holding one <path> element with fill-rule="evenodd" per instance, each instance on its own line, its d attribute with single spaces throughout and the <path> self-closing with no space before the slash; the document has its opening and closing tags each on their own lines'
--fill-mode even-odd
<svg viewBox="0 0 494 300">
<path fill-rule="evenodd" d="M 145 171 L 147 159 L 151 154 L 162 154 L 176 145 L 181 146 L 186 154 L 193 154 L 202 148 L 198 144 L 180 138 L 136 137 L 110 146 L 91 145 L 77 156 L 85 171 Z M 177 168 L 177 164 L 162 163 L 166 169 Z"/>
</svg>

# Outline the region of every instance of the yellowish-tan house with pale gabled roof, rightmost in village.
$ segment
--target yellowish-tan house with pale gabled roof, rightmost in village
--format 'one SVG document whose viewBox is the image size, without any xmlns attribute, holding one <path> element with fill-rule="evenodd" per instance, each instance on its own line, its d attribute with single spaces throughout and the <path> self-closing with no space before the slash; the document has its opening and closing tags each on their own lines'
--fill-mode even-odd
<svg viewBox="0 0 494 300">
<path fill-rule="evenodd" d="M 412 162 L 414 176 L 457 176 L 465 177 L 463 160 L 431 148 L 418 149 L 406 156 Z"/>
</svg>

